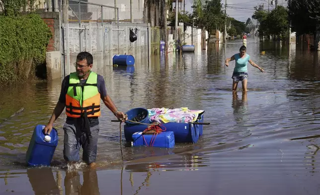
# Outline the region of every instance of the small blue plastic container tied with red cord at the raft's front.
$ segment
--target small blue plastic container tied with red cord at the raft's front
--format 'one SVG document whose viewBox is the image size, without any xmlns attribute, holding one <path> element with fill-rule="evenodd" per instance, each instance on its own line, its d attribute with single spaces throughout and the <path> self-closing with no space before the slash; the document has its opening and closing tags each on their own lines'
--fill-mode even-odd
<svg viewBox="0 0 320 195">
<path fill-rule="evenodd" d="M 132 134 L 132 139 L 132 146 L 173 148 L 175 144 L 174 133 L 172 131 L 163 131 L 157 136 L 153 133 L 143 135 L 142 132 L 136 132 Z"/>
</svg>

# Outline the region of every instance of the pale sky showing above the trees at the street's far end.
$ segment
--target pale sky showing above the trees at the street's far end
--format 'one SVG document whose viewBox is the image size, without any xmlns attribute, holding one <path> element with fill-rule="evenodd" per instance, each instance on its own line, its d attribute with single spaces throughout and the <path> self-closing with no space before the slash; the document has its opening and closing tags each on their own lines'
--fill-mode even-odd
<svg viewBox="0 0 320 195">
<path fill-rule="evenodd" d="M 193 0 L 185 0 L 185 10 L 192 11 L 191 5 Z M 225 0 L 221 0 L 225 4 Z M 270 0 L 271 3 L 271 0 Z M 245 22 L 248 17 L 251 18 L 254 12 L 254 6 L 264 4 L 264 9 L 268 10 L 268 0 L 227 0 L 227 15 L 233 17 L 241 22 Z M 287 1 L 278 0 L 278 5 L 287 5 Z M 173 5 L 174 6 L 174 5 Z M 270 10 L 274 9 L 274 5 L 270 4 Z M 183 6 L 182 6 L 183 8 Z"/>
</svg>

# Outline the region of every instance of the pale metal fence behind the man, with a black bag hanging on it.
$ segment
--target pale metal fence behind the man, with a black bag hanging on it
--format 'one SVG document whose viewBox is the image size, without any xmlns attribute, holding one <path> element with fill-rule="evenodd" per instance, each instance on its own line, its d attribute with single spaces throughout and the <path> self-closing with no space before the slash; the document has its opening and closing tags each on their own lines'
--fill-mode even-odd
<svg viewBox="0 0 320 195">
<path fill-rule="evenodd" d="M 147 24 L 131 26 L 120 24 L 98 25 L 97 23 L 64 24 L 64 49 L 65 49 L 65 74 L 70 73 L 70 68 L 81 51 L 101 57 L 105 65 L 112 65 L 112 57 L 116 54 L 133 55 L 135 58 L 150 56 L 150 27 Z M 137 40 L 129 40 L 130 29 L 137 33 Z"/>
</svg>

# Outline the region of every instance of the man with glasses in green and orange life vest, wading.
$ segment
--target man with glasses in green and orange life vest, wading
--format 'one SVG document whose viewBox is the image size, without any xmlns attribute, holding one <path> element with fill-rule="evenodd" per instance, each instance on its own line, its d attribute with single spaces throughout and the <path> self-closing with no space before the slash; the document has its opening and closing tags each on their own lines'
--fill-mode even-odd
<svg viewBox="0 0 320 195">
<path fill-rule="evenodd" d="M 67 120 L 63 127 L 65 131 L 63 153 L 69 166 L 80 160 L 81 145 L 82 160 L 90 167 L 95 166 L 100 98 L 119 120 L 127 119 L 123 112 L 117 110 L 112 99 L 107 95 L 103 77 L 91 71 L 92 63 L 93 57 L 90 53 L 78 54 L 75 63 L 77 72 L 71 73 L 63 80 L 59 101 L 43 129 L 45 134 L 50 134 L 54 121 L 66 106 Z"/>
</svg>

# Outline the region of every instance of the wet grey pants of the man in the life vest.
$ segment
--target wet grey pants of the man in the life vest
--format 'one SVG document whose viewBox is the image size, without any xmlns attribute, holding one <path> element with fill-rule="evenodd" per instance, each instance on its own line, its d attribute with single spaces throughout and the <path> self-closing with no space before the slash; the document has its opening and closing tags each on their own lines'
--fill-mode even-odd
<svg viewBox="0 0 320 195">
<path fill-rule="evenodd" d="M 63 127 L 64 136 L 64 158 L 66 161 L 80 160 L 80 147 L 82 146 L 82 160 L 88 164 L 95 162 L 97 155 L 97 143 L 99 134 L 98 118 L 89 118 L 91 135 L 87 137 L 85 132 L 81 132 L 82 118 L 67 117 Z M 87 142 L 89 139 L 89 143 Z"/>
</svg>

